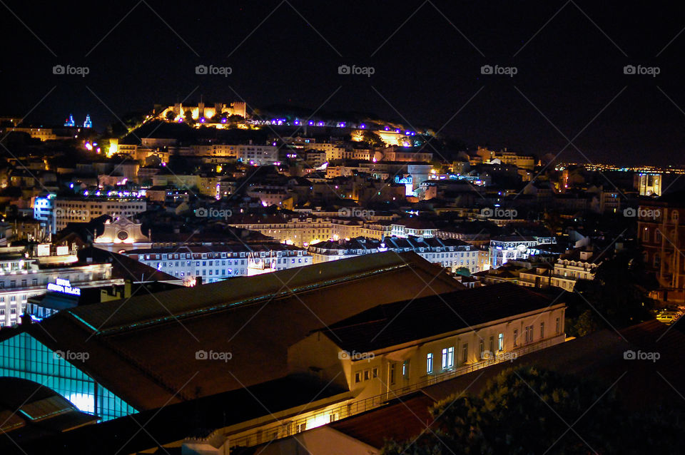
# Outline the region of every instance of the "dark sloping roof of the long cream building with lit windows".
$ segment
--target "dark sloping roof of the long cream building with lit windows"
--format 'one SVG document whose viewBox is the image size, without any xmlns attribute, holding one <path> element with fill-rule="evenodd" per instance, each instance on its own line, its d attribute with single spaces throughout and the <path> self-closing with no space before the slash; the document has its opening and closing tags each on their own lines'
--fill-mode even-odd
<svg viewBox="0 0 685 455">
<path fill-rule="evenodd" d="M 349 352 L 372 352 L 540 310 L 552 303 L 526 287 L 502 283 L 379 305 L 322 332 Z"/>
</svg>

